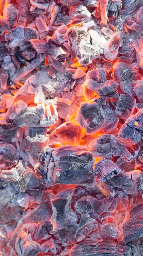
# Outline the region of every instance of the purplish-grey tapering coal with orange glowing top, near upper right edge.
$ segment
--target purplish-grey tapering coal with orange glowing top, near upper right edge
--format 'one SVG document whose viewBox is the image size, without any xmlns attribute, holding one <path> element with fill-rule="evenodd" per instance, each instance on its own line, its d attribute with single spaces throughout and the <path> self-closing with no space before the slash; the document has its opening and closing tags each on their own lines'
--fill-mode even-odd
<svg viewBox="0 0 143 256">
<path fill-rule="evenodd" d="M 137 69 L 131 64 L 116 62 L 113 66 L 113 70 L 114 72 L 112 76 L 119 82 L 121 90 L 130 96 L 135 96 L 135 92 L 133 91 L 135 80 L 138 80 L 141 77 Z"/>
</svg>

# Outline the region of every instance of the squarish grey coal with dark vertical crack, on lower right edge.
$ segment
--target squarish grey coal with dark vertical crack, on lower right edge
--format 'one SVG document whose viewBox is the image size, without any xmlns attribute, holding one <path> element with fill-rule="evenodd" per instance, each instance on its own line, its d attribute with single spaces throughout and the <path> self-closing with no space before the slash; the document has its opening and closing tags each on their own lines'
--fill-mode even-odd
<svg viewBox="0 0 143 256">
<path fill-rule="evenodd" d="M 140 170 L 132 172 L 125 172 L 121 174 L 122 177 L 122 191 L 127 195 L 138 195 L 143 190 L 143 175 Z"/>
</svg>

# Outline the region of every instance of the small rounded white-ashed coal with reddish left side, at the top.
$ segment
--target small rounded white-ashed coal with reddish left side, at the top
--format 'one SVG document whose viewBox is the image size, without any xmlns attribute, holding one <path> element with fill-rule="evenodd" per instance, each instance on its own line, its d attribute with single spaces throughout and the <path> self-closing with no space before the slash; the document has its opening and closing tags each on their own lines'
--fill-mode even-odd
<svg viewBox="0 0 143 256">
<path fill-rule="evenodd" d="M 72 22 L 87 22 L 90 20 L 91 13 L 88 12 L 87 7 L 78 5 L 70 7 L 69 15 Z"/>
</svg>

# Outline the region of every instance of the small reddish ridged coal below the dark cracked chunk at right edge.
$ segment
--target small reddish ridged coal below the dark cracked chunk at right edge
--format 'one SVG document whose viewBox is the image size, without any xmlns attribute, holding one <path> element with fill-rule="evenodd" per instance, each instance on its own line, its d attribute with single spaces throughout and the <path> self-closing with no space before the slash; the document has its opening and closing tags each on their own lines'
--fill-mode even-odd
<svg viewBox="0 0 143 256">
<path fill-rule="evenodd" d="M 126 146 L 125 150 L 121 154 L 121 158 L 126 162 L 132 162 L 137 157 L 140 151 L 140 145 Z"/>
</svg>

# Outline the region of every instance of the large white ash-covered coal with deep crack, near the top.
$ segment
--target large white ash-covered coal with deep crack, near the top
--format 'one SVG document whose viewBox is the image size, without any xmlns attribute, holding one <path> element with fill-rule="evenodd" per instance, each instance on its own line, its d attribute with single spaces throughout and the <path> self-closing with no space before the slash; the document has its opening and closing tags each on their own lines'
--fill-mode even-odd
<svg viewBox="0 0 143 256">
<path fill-rule="evenodd" d="M 67 33 L 69 44 L 71 44 L 81 65 L 90 64 L 93 59 L 99 57 L 101 52 L 103 53 L 103 42 L 95 30 L 90 29 L 87 32 L 87 29 L 73 26 L 68 29 Z M 92 41 L 92 44 L 90 41 Z"/>
</svg>

